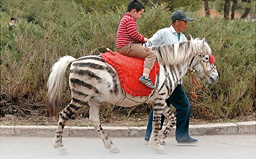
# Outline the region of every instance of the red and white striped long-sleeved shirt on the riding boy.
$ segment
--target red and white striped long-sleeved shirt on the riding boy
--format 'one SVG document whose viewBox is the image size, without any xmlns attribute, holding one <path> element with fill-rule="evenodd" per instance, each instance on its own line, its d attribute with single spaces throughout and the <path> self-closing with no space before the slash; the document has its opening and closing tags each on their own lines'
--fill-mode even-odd
<svg viewBox="0 0 256 159">
<path fill-rule="evenodd" d="M 129 14 L 124 14 L 116 34 L 116 47 L 125 47 L 131 42 L 143 42 L 144 36 L 138 31 L 136 20 Z"/>
</svg>

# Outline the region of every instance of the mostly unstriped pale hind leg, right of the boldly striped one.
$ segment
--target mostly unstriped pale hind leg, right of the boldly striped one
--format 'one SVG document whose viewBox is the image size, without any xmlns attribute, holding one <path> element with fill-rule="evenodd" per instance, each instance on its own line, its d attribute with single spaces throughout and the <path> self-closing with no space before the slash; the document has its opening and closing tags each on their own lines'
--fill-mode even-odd
<svg viewBox="0 0 256 159">
<path fill-rule="evenodd" d="M 111 141 L 107 134 L 103 131 L 102 126 L 99 124 L 99 104 L 96 104 L 92 99 L 89 101 L 90 104 L 90 122 L 92 125 L 94 125 L 95 130 L 98 131 L 99 136 L 102 138 L 102 141 L 105 145 L 105 147 L 110 150 L 112 153 L 117 153 L 120 150 L 118 147 L 116 147 L 116 144 Z"/>
</svg>

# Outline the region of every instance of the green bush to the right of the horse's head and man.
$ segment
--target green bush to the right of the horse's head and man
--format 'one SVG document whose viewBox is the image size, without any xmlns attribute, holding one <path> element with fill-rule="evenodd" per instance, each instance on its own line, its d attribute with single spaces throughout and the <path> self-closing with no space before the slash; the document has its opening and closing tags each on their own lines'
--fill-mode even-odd
<svg viewBox="0 0 256 159">
<path fill-rule="evenodd" d="M 199 101 L 210 108 L 208 117 L 237 117 L 255 112 L 255 23 L 223 18 L 197 18 L 187 34 L 206 37 L 217 57 L 221 77 L 210 95 Z M 212 98 L 214 96 L 214 98 Z M 194 108 L 198 114 L 201 110 Z"/>
</svg>

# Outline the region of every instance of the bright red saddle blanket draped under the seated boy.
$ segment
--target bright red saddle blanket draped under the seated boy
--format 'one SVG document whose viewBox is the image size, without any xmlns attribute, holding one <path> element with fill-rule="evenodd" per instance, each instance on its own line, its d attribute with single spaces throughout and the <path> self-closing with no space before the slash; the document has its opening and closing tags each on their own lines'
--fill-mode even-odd
<svg viewBox="0 0 256 159">
<path fill-rule="evenodd" d="M 132 58 L 121 53 L 101 53 L 102 58 L 111 66 L 113 66 L 118 74 L 121 87 L 124 91 L 132 96 L 149 96 L 152 88 L 140 82 L 139 78 L 143 74 L 144 60 L 140 58 Z M 155 62 L 153 69 L 150 73 L 150 78 L 153 83 L 159 71 L 159 65 Z"/>
</svg>

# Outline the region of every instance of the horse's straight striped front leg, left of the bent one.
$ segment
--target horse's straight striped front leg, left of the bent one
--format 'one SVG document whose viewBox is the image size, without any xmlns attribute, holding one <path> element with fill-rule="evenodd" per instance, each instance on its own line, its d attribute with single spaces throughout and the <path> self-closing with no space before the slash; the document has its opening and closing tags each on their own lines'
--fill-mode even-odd
<svg viewBox="0 0 256 159">
<path fill-rule="evenodd" d="M 151 138 L 149 140 L 149 145 L 159 154 L 166 154 L 165 148 L 162 147 L 162 141 L 159 139 L 159 130 L 161 126 L 161 116 L 164 110 L 165 101 L 157 101 L 154 104 L 154 114 L 153 114 L 153 129 Z"/>
</svg>

